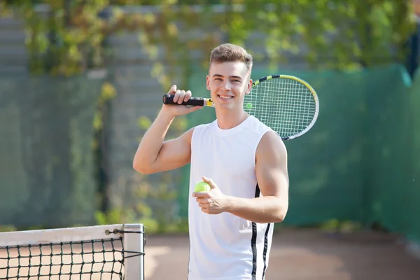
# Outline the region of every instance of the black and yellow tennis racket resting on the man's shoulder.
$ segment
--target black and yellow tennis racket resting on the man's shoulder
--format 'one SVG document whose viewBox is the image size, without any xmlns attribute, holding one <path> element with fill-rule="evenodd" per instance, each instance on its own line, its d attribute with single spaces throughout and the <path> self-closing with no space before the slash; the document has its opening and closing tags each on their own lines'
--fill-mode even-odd
<svg viewBox="0 0 420 280">
<path fill-rule="evenodd" d="M 209 98 L 191 97 L 181 104 L 174 102 L 172 94 L 163 96 L 164 104 L 210 106 Z M 252 83 L 244 97 L 244 110 L 258 118 L 281 139 L 301 137 L 315 124 L 319 113 L 319 100 L 315 90 L 304 80 L 288 75 L 265 76 Z"/>
</svg>

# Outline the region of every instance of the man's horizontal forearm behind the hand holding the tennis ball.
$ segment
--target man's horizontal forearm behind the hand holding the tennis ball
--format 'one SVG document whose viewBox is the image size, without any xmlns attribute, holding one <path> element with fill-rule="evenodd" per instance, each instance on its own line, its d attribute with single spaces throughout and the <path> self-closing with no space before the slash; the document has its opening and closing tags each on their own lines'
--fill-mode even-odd
<svg viewBox="0 0 420 280">
<path fill-rule="evenodd" d="M 228 197 L 227 200 L 227 212 L 255 223 L 281 223 L 286 216 L 287 205 L 278 197 Z"/>
</svg>

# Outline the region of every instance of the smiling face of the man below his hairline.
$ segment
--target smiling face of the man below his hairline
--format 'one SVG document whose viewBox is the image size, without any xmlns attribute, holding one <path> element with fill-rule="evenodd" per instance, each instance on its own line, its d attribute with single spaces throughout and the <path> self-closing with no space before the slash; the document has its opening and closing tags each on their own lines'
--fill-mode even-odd
<svg viewBox="0 0 420 280">
<path fill-rule="evenodd" d="M 251 91 L 250 71 L 243 62 L 212 63 L 207 76 L 207 90 L 218 108 L 242 108 L 244 94 Z"/>
</svg>

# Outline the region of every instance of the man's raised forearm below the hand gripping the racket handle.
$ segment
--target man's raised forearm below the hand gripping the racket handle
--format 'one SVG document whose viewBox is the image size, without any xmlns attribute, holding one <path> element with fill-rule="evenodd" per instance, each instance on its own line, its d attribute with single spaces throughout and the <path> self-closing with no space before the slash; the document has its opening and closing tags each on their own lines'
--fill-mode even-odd
<svg viewBox="0 0 420 280">
<path fill-rule="evenodd" d="M 167 111 L 159 112 L 158 117 L 141 139 L 134 155 L 135 169 L 146 172 L 146 169 L 155 162 L 173 120 L 174 116 Z"/>
</svg>

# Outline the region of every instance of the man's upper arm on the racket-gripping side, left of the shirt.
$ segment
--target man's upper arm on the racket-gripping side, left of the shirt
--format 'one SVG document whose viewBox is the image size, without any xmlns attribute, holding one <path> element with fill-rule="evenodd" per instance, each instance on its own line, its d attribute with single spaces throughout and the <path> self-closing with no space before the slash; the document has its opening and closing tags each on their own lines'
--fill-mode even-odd
<svg viewBox="0 0 420 280">
<path fill-rule="evenodd" d="M 193 128 L 176 139 L 167 140 L 162 144 L 155 165 L 160 171 L 183 167 L 190 162 L 191 137 Z"/>
</svg>

